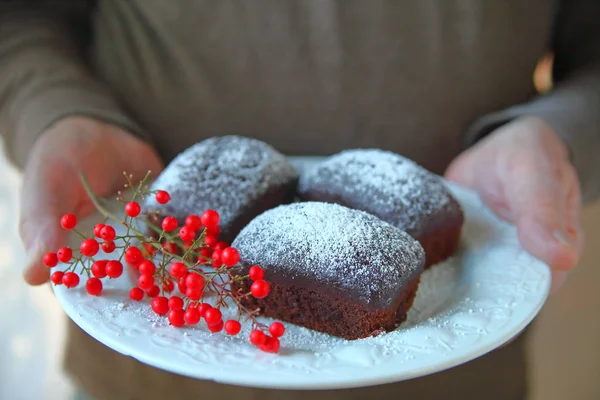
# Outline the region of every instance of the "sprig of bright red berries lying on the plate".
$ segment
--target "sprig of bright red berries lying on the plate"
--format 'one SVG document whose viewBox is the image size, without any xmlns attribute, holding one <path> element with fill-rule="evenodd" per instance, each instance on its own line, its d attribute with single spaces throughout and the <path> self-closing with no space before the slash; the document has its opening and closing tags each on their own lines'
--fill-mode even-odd
<svg viewBox="0 0 600 400">
<path fill-rule="evenodd" d="M 66 265 L 63 270 L 52 273 L 51 281 L 55 285 L 74 288 L 79 285 L 80 276 L 86 276 L 87 293 L 99 296 L 103 289 L 102 279 L 120 277 L 125 263 L 139 272 L 137 285 L 129 292 L 130 299 L 142 301 L 144 297 L 151 298 L 152 310 L 166 316 L 172 326 L 194 326 L 204 320 L 211 332 L 224 330 L 228 335 L 237 335 L 242 328 L 240 320 L 224 321 L 221 313 L 222 308 L 233 304 L 238 315 L 245 315 L 245 320 L 252 324 L 250 342 L 262 351 L 278 352 L 279 338 L 285 332 L 283 324 L 274 322 L 267 328 L 256 319 L 258 309 L 248 310 L 243 305 L 245 298 L 263 298 L 269 294 L 270 286 L 264 280 L 263 269 L 255 265 L 243 274 L 243 268 L 238 266 L 238 250 L 219 240 L 220 217 L 215 210 L 206 210 L 200 216 L 189 215 L 182 224 L 172 216 L 161 218 L 156 213 L 142 214 L 137 198 L 155 196 L 160 204 L 171 200 L 164 190 L 148 189 L 145 183 L 149 176 L 150 173 L 134 185 L 133 177 L 125 174 L 128 181 L 125 187 L 132 188 L 133 195 L 130 201 L 126 201 L 119 192 L 118 200 L 124 204 L 124 218 L 106 209 L 82 176 L 90 199 L 105 220 L 94 226 L 93 235 L 89 235 L 92 237 L 88 237 L 76 229 L 75 215 L 65 214 L 61 218 L 61 226 L 78 234 L 82 242 L 79 249 L 63 247 L 44 256 L 43 262 L 50 268 L 56 267 L 59 262 Z M 143 218 L 137 219 L 140 215 Z M 122 224 L 126 233 L 117 235 L 110 221 Z M 140 231 L 135 221 L 142 221 L 150 234 Z M 118 258 L 100 259 L 97 257 L 100 249 L 108 254 L 117 252 Z M 244 279 L 252 281 L 248 293 L 231 289 L 232 283 Z M 179 294 L 173 294 L 176 287 Z M 212 304 L 207 301 L 209 297 L 214 297 Z"/>
</svg>

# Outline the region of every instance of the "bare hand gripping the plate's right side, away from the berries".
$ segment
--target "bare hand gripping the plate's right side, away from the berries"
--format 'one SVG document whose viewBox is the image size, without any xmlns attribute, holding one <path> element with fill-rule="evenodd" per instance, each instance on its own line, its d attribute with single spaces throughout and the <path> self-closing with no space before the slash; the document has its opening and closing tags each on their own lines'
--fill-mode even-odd
<svg viewBox="0 0 600 400">
<path fill-rule="evenodd" d="M 517 226 L 525 250 L 552 268 L 553 292 L 563 284 L 583 247 L 581 194 L 568 150 L 545 122 L 522 118 L 492 132 L 454 160 L 446 177 Z"/>
</svg>

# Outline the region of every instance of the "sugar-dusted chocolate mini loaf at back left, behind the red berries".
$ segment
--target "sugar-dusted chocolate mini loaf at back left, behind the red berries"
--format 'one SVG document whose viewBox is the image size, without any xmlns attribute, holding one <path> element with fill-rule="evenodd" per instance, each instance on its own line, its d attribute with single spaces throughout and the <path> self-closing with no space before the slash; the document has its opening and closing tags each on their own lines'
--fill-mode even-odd
<svg viewBox="0 0 600 400">
<path fill-rule="evenodd" d="M 188 215 L 216 210 L 220 237 L 231 242 L 263 211 L 293 201 L 297 182 L 298 172 L 268 144 L 239 136 L 213 137 L 178 155 L 152 184 L 152 190 L 166 190 L 172 200 L 162 205 L 148 196 L 144 209 L 171 215 L 180 224 Z"/>
</svg>

